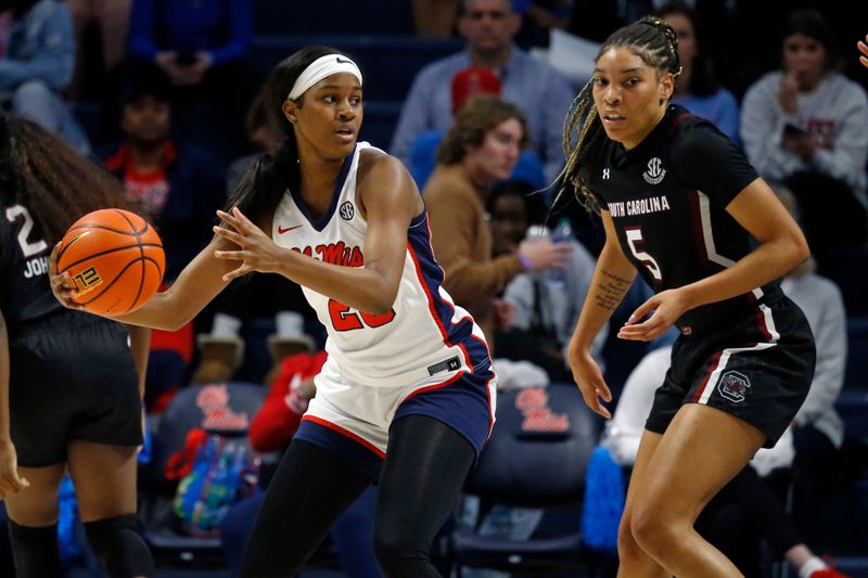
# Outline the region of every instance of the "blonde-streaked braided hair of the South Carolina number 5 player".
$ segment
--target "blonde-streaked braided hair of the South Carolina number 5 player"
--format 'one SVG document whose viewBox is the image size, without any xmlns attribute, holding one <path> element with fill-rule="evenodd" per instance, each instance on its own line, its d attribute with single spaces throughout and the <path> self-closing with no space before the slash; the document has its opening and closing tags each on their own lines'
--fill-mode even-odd
<svg viewBox="0 0 868 578">
<path fill-rule="evenodd" d="M 646 16 L 638 22 L 612 33 L 600 47 L 595 62 L 608 50 L 618 47 L 630 49 L 660 74 L 681 73 L 678 59 L 678 38 L 668 24 L 656 16 Z M 588 211 L 597 210 L 597 202 L 587 187 L 587 175 L 598 160 L 605 142 L 605 131 L 593 103 L 593 79 L 589 80 L 570 105 L 563 124 L 564 169 L 558 177 L 560 189 L 552 206 L 572 188 L 578 203 Z"/>
</svg>

